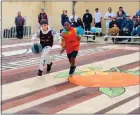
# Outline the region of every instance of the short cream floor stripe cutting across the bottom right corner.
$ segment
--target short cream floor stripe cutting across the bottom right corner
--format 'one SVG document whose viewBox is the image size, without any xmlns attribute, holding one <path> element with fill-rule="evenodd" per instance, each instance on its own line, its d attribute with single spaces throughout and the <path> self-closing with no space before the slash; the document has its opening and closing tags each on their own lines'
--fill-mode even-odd
<svg viewBox="0 0 140 115">
<path fill-rule="evenodd" d="M 116 114 L 116 113 L 117 114 L 120 114 L 120 113 L 121 114 L 123 114 L 123 113 L 126 114 L 126 113 L 129 113 L 129 112 L 137 109 L 138 107 L 140 107 L 140 97 L 137 97 L 137 98 L 135 98 L 135 99 L 133 99 L 133 100 L 131 100 L 131 101 L 129 101 L 129 102 L 127 102 L 127 103 L 125 103 L 125 104 L 107 112 L 106 114 L 112 114 L 112 113 L 113 114 Z"/>
</svg>

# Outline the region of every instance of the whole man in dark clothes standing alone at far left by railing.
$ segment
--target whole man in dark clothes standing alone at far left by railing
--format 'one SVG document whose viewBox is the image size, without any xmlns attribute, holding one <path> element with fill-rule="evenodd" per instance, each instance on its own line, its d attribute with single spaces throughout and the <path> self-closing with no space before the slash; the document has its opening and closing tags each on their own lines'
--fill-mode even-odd
<svg viewBox="0 0 140 115">
<path fill-rule="evenodd" d="M 17 38 L 23 38 L 23 28 L 25 24 L 25 19 L 21 16 L 21 12 L 18 12 L 18 16 L 15 18 L 16 33 Z"/>
</svg>

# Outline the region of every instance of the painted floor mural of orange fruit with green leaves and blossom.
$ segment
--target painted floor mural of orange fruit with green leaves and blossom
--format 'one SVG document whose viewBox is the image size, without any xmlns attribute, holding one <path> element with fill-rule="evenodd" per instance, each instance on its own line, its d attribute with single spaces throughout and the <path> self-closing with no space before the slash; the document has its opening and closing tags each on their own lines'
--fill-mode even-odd
<svg viewBox="0 0 140 115">
<path fill-rule="evenodd" d="M 69 77 L 68 71 L 55 76 L 55 78 L 64 77 Z M 125 87 L 138 85 L 139 77 L 140 71 L 126 71 L 119 68 L 103 71 L 103 67 L 88 66 L 78 68 L 68 80 L 78 86 L 98 87 L 99 91 L 113 98 L 122 95 Z"/>
</svg>

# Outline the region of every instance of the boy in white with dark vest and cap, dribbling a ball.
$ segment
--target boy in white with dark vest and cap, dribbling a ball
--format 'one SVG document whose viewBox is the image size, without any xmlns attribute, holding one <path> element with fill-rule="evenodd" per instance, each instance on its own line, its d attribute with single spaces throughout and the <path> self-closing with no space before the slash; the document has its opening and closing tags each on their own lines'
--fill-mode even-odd
<svg viewBox="0 0 140 115">
<path fill-rule="evenodd" d="M 61 37 L 54 29 L 48 26 L 46 20 L 41 20 L 41 28 L 32 37 L 34 44 L 37 44 L 37 38 L 40 38 L 40 44 L 42 45 L 42 55 L 40 60 L 40 68 L 38 70 L 38 76 L 42 76 L 44 65 L 47 64 L 47 72 L 50 72 L 52 67 L 52 61 L 50 58 L 50 51 L 54 41 L 61 42 Z"/>
</svg>

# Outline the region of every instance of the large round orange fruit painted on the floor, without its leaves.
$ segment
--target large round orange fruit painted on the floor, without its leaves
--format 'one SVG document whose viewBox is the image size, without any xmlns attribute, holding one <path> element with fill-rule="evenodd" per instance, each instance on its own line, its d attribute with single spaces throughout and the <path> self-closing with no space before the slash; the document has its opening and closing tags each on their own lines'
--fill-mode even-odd
<svg viewBox="0 0 140 115">
<path fill-rule="evenodd" d="M 140 84 L 137 75 L 119 72 L 87 72 L 69 78 L 73 84 L 85 87 L 126 87 Z"/>
</svg>

